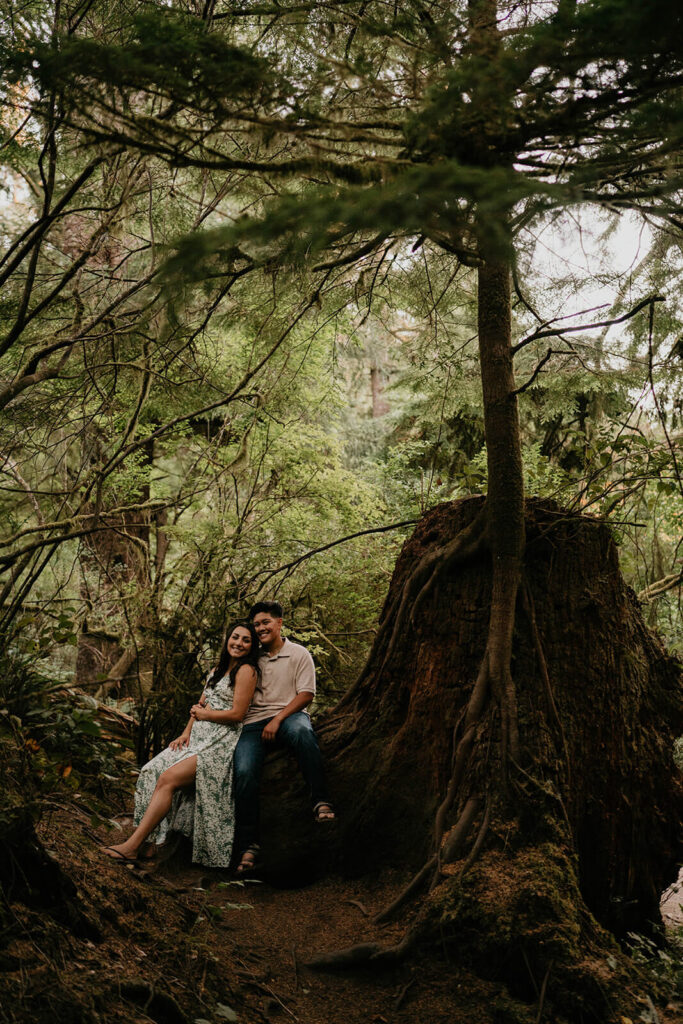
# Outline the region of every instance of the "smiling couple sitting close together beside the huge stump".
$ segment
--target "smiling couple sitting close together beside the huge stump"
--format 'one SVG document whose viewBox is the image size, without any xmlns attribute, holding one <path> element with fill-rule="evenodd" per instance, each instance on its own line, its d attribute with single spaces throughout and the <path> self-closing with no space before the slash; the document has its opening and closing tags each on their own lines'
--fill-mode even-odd
<svg viewBox="0 0 683 1024">
<path fill-rule="evenodd" d="M 282 636 L 283 609 L 259 601 L 249 622 L 228 631 L 218 665 L 182 734 L 140 771 L 135 830 L 102 852 L 135 861 L 148 839 L 161 844 L 170 828 L 193 840 L 193 860 L 254 870 L 259 856 L 258 803 L 268 746 L 296 755 L 316 821 L 334 821 L 323 759 L 306 712 L 315 693 L 313 659 Z M 259 642 L 261 649 L 259 650 Z M 186 788 L 195 783 L 194 795 Z"/>
</svg>

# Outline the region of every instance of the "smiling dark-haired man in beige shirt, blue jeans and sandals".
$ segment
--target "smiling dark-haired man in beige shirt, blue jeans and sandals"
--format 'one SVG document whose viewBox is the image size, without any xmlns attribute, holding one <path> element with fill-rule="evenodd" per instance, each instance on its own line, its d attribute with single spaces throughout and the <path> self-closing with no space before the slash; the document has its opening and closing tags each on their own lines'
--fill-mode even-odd
<svg viewBox="0 0 683 1024">
<path fill-rule="evenodd" d="M 315 694 L 313 659 L 301 644 L 283 637 L 283 608 L 259 601 L 249 612 L 263 653 L 261 678 L 234 751 L 238 874 L 254 870 L 259 854 L 259 785 L 268 748 L 288 746 L 296 756 L 316 821 L 334 821 L 323 758 L 306 708 Z"/>
</svg>

